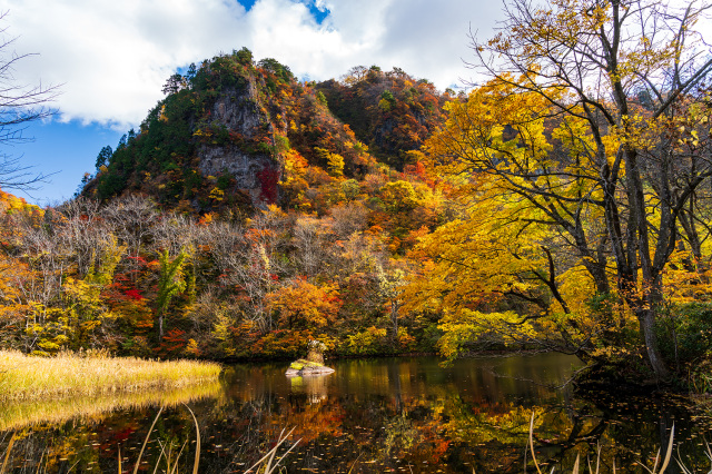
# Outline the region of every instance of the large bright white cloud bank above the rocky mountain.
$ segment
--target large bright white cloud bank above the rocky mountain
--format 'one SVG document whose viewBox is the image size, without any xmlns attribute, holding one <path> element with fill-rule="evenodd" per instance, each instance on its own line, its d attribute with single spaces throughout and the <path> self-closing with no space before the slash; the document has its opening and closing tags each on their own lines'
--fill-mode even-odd
<svg viewBox="0 0 712 474">
<path fill-rule="evenodd" d="M 479 4 L 477 4 L 479 3 Z M 484 4 L 483 4 L 484 3 Z M 329 14 L 322 24 L 308 6 Z M 490 4 L 490 7 L 487 7 Z M 488 34 L 498 4 L 472 0 L 7 0 L 26 83 L 61 83 L 63 120 L 136 126 L 178 67 L 243 46 L 297 76 L 394 66 L 445 88 L 468 72 L 467 30 Z"/>
</svg>

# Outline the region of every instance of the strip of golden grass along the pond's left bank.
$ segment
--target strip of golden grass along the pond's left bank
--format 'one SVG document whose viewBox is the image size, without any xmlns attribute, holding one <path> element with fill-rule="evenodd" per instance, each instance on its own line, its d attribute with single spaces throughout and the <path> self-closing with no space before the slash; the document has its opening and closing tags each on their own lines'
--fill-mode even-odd
<svg viewBox="0 0 712 474">
<path fill-rule="evenodd" d="M 95 396 L 216 381 L 220 366 L 195 361 L 136 357 L 34 357 L 0 350 L 0 402 Z"/>
</svg>

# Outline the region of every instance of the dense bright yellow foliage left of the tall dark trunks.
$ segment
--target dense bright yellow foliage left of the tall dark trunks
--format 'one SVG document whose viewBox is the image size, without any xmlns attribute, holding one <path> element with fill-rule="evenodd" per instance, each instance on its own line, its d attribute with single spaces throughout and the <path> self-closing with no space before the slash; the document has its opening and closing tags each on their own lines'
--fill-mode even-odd
<svg viewBox="0 0 712 474">
<path fill-rule="evenodd" d="M 573 347 L 614 324 L 610 313 L 595 314 L 587 304 L 596 294 L 587 261 L 551 250 L 571 245 L 552 216 L 573 215 L 582 200 L 601 198 L 594 137 L 575 116 L 552 128 L 551 101 L 516 91 L 516 78 L 505 78 L 510 82 L 473 90 L 466 102 L 448 102 L 444 128 L 424 147 L 422 160 L 456 217 L 419 239 L 413 256 L 426 264 L 404 300 L 406 310 L 445 315 L 439 345 L 448 358 L 485 336 L 504 345 L 547 339 Z M 564 160 L 550 140 L 557 140 Z M 620 137 L 603 140 L 606 158 L 615 159 Z M 602 208 L 586 208 L 582 220 L 591 236 L 605 235 Z M 522 314 L 501 310 L 512 304 Z"/>
</svg>

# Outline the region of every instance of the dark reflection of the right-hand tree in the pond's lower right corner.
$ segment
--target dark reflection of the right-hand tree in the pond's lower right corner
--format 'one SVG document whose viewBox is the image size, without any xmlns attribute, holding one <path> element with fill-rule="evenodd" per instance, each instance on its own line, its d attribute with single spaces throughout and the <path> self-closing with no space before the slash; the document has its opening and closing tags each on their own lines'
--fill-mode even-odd
<svg viewBox="0 0 712 474">
<path fill-rule="evenodd" d="M 639 463 L 652 467 L 657 450 L 664 451 L 668 446 L 673 419 L 678 421 L 676 456 L 689 467 L 705 468 L 705 472 L 709 468 L 704 451 L 696 443 L 690 443 L 695 433 L 701 434 L 709 428 L 692 424 L 685 406 L 651 397 L 609 396 L 601 399 L 601 394 L 597 394 L 595 397 L 575 397 L 545 407 L 536 414 L 536 456 L 541 464 L 547 466 L 547 471 L 557 465 L 557 472 L 568 472 L 580 455 L 584 463 L 589 460 L 593 465 L 600 463 L 600 472 L 613 472 L 613 463 L 616 472 L 643 472 Z M 524 436 L 527 434 L 524 433 Z M 515 442 L 510 444 L 516 445 Z M 518 444 L 526 444 L 526 438 Z M 523 454 L 523 450 L 520 450 L 511 458 L 511 468 L 487 464 L 486 456 L 479 456 L 478 464 L 484 471 L 497 467 L 498 472 L 521 472 Z M 681 471 L 675 464 L 668 472 Z"/>
</svg>

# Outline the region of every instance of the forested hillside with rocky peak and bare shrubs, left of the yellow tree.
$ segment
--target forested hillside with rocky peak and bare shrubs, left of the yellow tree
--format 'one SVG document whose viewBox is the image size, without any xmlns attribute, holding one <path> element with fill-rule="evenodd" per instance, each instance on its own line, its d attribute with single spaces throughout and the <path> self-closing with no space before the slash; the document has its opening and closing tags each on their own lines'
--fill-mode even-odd
<svg viewBox="0 0 712 474">
<path fill-rule="evenodd" d="M 388 120 L 407 122 L 411 107 L 431 128 L 444 120 L 446 97 L 427 81 L 372 77 L 380 88 L 393 77 L 397 97 L 411 85 Z M 314 338 L 336 354 L 435 349 L 437 315 L 399 310 L 405 255 L 446 215 L 415 151 L 426 128 L 388 148 L 407 156 L 393 169 L 314 83 L 246 49 L 174 75 L 164 92 L 138 131 L 99 152 L 81 196 L 4 214 L 7 346 L 214 358 L 293 357 Z M 380 136 L 397 144 L 398 130 Z"/>
</svg>

